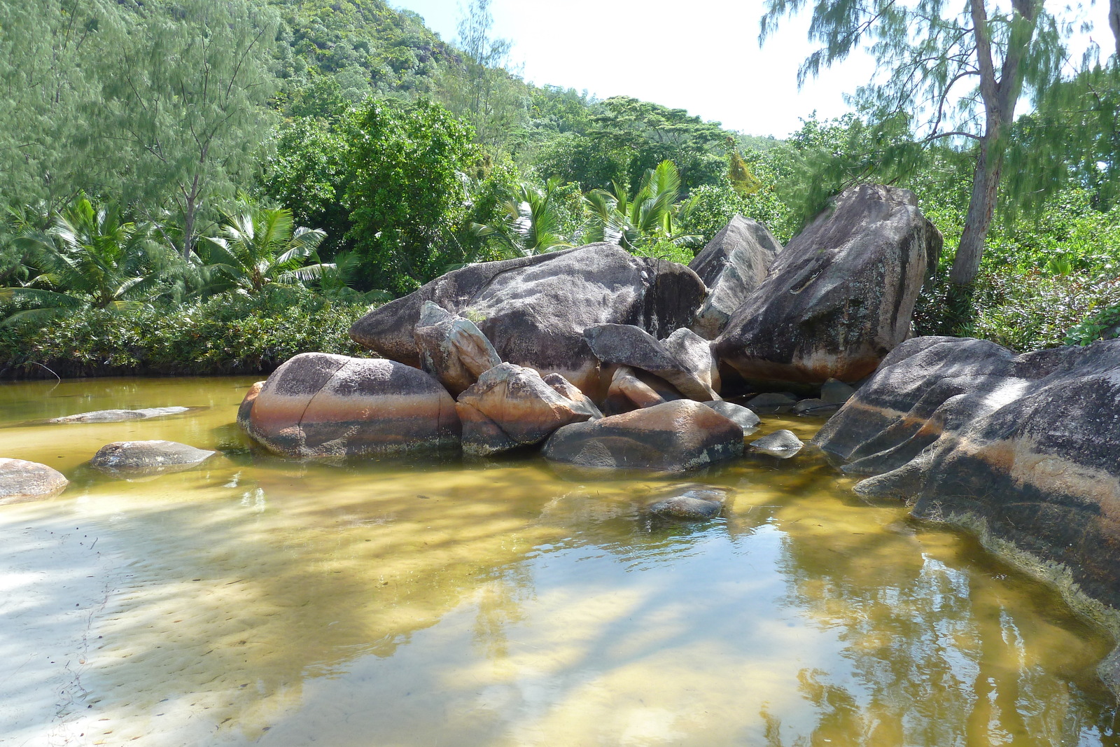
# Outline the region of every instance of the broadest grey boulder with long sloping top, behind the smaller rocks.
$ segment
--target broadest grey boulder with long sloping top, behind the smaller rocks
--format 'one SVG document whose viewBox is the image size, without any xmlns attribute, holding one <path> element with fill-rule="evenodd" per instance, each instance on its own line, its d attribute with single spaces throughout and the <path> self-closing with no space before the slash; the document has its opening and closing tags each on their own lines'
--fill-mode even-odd
<svg viewBox="0 0 1120 747">
<path fill-rule="evenodd" d="M 632 324 L 655 337 L 687 327 L 707 293 L 684 265 L 634 256 L 614 244 L 472 264 L 354 323 L 361 345 L 420 366 L 414 330 L 426 301 L 473 320 L 503 361 L 559 373 L 596 401 L 609 380 L 584 329 Z"/>
</svg>

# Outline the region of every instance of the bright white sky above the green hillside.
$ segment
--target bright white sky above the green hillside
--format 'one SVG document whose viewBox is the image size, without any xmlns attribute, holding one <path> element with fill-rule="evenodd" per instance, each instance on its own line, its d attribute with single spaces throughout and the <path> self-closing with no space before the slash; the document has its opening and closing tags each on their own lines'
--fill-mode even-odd
<svg viewBox="0 0 1120 747">
<path fill-rule="evenodd" d="M 466 0 L 390 0 L 423 16 L 447 41 Z M 1107 2 L 1092 9 L 1096 35 L 1112 44 Z M 844 93 L 866 83 L 866 55 L 797 90 L 797 66 L 812 50 L 808 17 L 786 19 L 758 48 L 762 0 L 493 0 L 494 35 L 514 43 L 512 60 L 528 81 L 599 99 L 625 94 L 689 110 L 748 134 L 785 137 L 799 118 L 848 111 Z"/>
</svg>

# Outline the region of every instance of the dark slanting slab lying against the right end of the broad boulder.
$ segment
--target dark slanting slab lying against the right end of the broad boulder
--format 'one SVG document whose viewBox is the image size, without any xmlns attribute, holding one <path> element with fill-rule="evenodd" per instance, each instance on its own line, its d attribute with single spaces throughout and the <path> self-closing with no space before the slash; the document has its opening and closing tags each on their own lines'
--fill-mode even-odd
<svg viewBox="0 0 1120 747">
<path fill-rule="evenodd" d="M 652 373 L 672 384 L 684 396 L 698 402 L 719 399 L 710 384 L 710 358 L 699 365 L 693 363 L 689 366 L 641 327 L 620 324 L 597 325 L 585 329 L 584 338 L 603 363 L 617 363 Z M 688 338 L 678 337 L 674 346 L 681 347 L 687 355 L 694 358 L 694 352 L 689 347 L 690 342 Z M 693 371 L 693 367 L 700 371 Z M 701 376 L 707 379 L 708 383 L 701 380 Z"/>
</svg>

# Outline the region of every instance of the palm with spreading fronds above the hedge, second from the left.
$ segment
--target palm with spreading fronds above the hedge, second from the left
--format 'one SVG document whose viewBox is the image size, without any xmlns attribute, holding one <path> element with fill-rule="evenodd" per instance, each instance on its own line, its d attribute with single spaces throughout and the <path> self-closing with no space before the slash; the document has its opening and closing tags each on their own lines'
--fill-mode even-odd
<svg viewBox="0 0 1120 747">
<path fill-rule="evenodd" d="M 304 284 L 336 270 L 318 262 L 316 249 L 327 234 L 317 228 L 295 228 L 291 211 L 260 207 L 242 196 L 241 209 L 225 216 L 220 236 L 199 245 L 200 261 L 224 276 L 227 284 L 256 293 L 270 282 Z M 315 264 L 305 264 L 315 259 Z"/>
</svg>

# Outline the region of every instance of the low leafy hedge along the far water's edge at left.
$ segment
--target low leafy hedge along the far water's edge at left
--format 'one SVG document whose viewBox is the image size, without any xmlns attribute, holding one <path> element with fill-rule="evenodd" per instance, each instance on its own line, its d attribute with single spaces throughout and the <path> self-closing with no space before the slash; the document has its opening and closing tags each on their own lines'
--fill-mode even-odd
<svg viewBox="0 0 1120 747">
<path fill-rule="evenodd" d="M 81 309 L 0 327 L 0 379 L 271 373 L 299 353 L 356 355 L 365 302 L 276 287 L 171 306 Z"/>
</svg>

